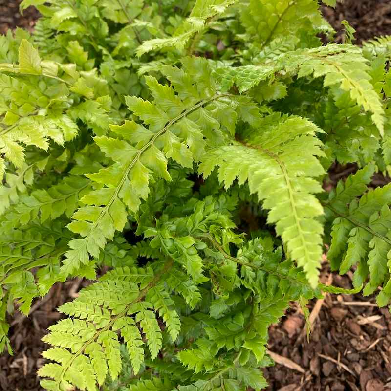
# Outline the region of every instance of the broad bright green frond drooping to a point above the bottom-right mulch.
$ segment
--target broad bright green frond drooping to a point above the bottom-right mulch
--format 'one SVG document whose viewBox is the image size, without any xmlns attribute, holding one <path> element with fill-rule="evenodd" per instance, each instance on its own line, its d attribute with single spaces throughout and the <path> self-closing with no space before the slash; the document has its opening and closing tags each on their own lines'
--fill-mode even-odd
<svg viewBox="0 0 391 391">
<path fill-rule="evenodd" d="M 316 287 L 323 232 L 317 217 L 323 208 L 312 194 L 322 191 L 314 179 L 324 173 L 316 159 L 323 155 L 322 143 L 315 137 L 321 130 L 308 120 L 279 114 L 266 117 L 262 128 L 261 134 L 253 131 L 242 142 L 212 150 L 199 171 L 208 177 L 218 166 L 219 181 L 226 189 L 236 178 L 239 185 L 248 180 L 250 192 L 270 209 L 268 222 L 276 223 L 288 255 Z"/>
</svg>

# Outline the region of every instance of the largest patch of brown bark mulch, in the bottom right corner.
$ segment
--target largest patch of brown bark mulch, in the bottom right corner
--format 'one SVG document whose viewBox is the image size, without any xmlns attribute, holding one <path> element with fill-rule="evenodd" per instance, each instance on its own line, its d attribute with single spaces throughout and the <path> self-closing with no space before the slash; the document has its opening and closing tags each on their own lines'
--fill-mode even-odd
<svg viewBox="0 0 391 391">
<path fill-rule="evenodd" d="M 333 275 L 333 284 L 349 288 L 351 281 Z M 373 297 L 326 295 L 308 342 L 302 310 L 292 304 L 282 322 L 270 327 L 269 349 L 303 373 L 289 369 L 289 362 L 270 367 L 267 391 L 391 390 L 390 320 Z"/>
</svg>

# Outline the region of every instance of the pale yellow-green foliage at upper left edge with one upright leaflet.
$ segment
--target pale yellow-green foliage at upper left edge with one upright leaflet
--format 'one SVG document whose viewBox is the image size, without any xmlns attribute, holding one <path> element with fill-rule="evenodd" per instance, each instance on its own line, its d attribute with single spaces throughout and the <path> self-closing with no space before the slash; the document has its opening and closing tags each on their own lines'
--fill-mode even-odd
<svg viewBox="0 0 391 391">
<path fill-rule="evenodd" d="M 18 62 L 0 64 L 0 154 L 16 168 L 24 163 L 25 146 L 48 151 L 50 140 L 60 146 L 73 140 L 79 133 L 78 119 L 97 134 L 108 130 L 109 88 L 96 70 L 78 72 L 76 65 L 42 60 L 25 39 Z M 75 96 L 78 105 L 68 105 Z M 88 100 L 80 102 L 80 97 Z"/>
</svg>

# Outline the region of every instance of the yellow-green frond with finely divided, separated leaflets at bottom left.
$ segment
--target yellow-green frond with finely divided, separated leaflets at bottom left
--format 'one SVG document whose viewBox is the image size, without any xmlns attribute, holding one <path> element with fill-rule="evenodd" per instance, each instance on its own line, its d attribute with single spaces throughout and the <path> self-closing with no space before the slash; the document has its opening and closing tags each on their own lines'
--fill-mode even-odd
<svg viewBox="0 0 391 391">
<path fill-rule="evenodd" d="M 50 326 L 51 332 L 43 337 L 43 341 L 55 348 L 65 348 L 69 360 L 63 360 L 63 354 L 57 357 L 51 354 L 52 349 L 48 350 L 48 358 L 59 363 L 46 364 L 39 371 L 43 377 L 54 379 L 49 390 L 65 391 L 68 383 L 81 390 L 95 390 L 107 373 L 115 379 L 122 362 L 117 330 L 129 350 L 134 373 L 144 361 L 144 342 L 138 325 L 146 336 L 152 359 L 156 357 L 161 348 L 162 333 L 151 308 L 163 316 L 172 337 L 180 327 L 169 294 L 162 285 L 157 286 L 167 267 L 160 274 L 153 274 L 151 268 L 113 269 L 101 282 L 84 288 L 76 300 L 59 308 L 72 318 Z M 151 303 L 143 301 L 144 298 Z M 51 370 L 53 365 L 58 370 Z M 83 373 L 87 370 L 89 379 L 75 378 L 73 373 L 76 370 L 83 370 Z"/>
</svg>

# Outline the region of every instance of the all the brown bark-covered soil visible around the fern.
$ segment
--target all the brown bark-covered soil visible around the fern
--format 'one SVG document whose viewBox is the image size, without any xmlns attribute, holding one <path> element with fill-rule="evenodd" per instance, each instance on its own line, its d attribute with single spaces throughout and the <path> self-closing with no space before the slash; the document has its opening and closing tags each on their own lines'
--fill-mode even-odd
<svg viewBox="0 0 391 391">
<path fill-rule="evenodd" d="M 21 0 L 0 0 L 0 33 L 17 26 L 31 30 L 39 13 L 30 7 L 19 13 Z M 328 21 L 343 42 L 341 21 L 356 30 L 357 43 L 391 34 L 391 0 L 345 0 L 336 9 L 323 7 Z M 354 172 L 356 167 L 333 168 L 328 186 Z M 375 178 L 374 186 L 389 178 Z M 323 279 L 326 281 L 327 273 Z M 349 276 L 332 276 L 333 284 L 348 288 Z M 56 284 L 49 294 L 33 304 L 30 316 L 11 319 L 10 338 L 14 356 L 0 356 L 0 390 L 43 391 L 36 371 L 45 360 L 41 338 L 48 326 L 60 319 L 56 308 L 77 295 L 86 282 L 71 280 Z M 313 301 L 309 309 L 319 308 Z M 275 367 L 265 369 L 267 391 L 391 391 L 391 314 L 378 309 L 372 297 L 326 295 L 313 324 L 309 342 L 303 334 L 304 316 L 294 303 L 286 317 L 269 333 L 269 349 L 278 356 Z M 304 337 L 303 337 L 304 335 Z M 296 369 L 290 369 L 292 364 Z"/>
</svg>

